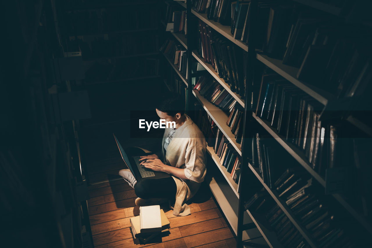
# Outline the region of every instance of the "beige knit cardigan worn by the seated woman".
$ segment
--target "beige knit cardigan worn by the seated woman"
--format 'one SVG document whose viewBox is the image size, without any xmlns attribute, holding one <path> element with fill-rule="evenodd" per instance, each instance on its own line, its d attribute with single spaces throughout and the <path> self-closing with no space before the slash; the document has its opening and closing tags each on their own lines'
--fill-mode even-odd
<svg viewBox="0 0 372 248">
<path fill-rule="evenodd" d="M 177 185 L 176 202 L 174 206 L 171 206 L 173 207 L 173 215 L 176 216 L 186 216 L 191 213 L 186 201 L 198 191 L 206 174 L 206 142 L 204 135 L 190 117 L 185 116 L 185 123 L 174 133 L 167 151 L 164 149 L 164 142 L 170 128 L 165 130 L 161 143 L 164 164 L 185 168 L 185 175 L 189 178 L 185 180 L 172 176 Z M 164 155 L 166 155 L 165 158 Z"/>
</svg>

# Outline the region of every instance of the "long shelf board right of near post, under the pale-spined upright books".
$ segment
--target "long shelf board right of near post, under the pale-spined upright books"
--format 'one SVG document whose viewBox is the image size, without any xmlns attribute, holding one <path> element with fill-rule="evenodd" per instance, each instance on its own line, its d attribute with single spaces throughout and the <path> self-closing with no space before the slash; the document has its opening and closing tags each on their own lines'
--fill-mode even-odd
<svg viewBox="0 0 372 248">
<path fill-rule="evenodd" d="M 262 120 L 261 118 L 257 117 L 254 113 L 252 113 L 252 116 L 254 119 L 257 120 L 257 122 L 264 128 L 266 131 L 278 141 L 278 143 L 291 154 L 292 157 L 295 158 L 299 164 L 302 165 L 302 167 L 307 170 L 312 177 L 315 178 L 323 187 L 325 187 L 325 180 L 323 177 L 321 177 L 317 172 L 315 172 L 312 169 L 312 165 L 308 162 L 308 159 L 305 157 L 304 152 L 300 150 L 297 146 L 289 143 L 288 141 L 285 140 L 285 138 L 282 138 L 276 129 L 272 128 L 266 120 Z M 333 194 L 332 195 L 345 209 L 347 212 L 350 213 L 364 228 L 367 229 L 369 233 L 372 234 L 372 227 L 371 224 L 369 224 L 366 219 L 361 216 L 352 206 L 350 206 L 349 203 L 346 202 L 344 197 L 340 194 Z"/>
</svg>

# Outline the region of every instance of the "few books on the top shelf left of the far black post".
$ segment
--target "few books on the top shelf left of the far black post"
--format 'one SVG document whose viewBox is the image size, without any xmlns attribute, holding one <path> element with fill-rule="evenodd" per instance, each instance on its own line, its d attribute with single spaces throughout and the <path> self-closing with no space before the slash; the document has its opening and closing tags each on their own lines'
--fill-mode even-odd
<svg viewBox="0 0 372 248">
<path fill-rule="evenodd" d="M 165 19 L 166 30 L 174 33 L 187 34 L 186 10 L 179 4 L 166 1 Z"/>
</svg>

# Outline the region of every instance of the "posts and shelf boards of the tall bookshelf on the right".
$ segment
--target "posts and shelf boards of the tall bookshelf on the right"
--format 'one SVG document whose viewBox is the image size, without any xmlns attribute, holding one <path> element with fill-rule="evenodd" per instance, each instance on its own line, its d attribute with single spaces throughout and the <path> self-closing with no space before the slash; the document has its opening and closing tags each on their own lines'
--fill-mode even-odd
<svg viewBox="0 0 372 248">
<path fill-rule="evenodd" d="M 305 241 L 310 245 L 310 247 L 318 247 L 319 240 L 315 240 L 313 238 L 312 233 L 308 231 L 302 223 L 298 221 L 297 218 L 295 218 L 292 211 L 289 209 L 289 207 L 286 205 L 286 203 L 279 198 L 279 193 L 277 193 L 275 190 L 270 189 L 263 181 L 263 179 L 260 176 L 260 173 L 258 170 L 256 170 L 251 164 L 248 163 L 250 161 L 248 158 L 252 155 L 252 147 L 251 147 L 251 135 L 255 132 L 255 128 L 257 128 L 257 132 L 263 132 L 264 134 L 268 133 L 272 138 L 276 140 L 275 146 L 283 148 L 286 152 L 291 155 L 291 157 L 294 158 L 294 160 L 301 165 L 302 168 L 305 169 L 306 175 L 310 175 L 314 181 L 317 181 L 317 184 L 320 185 L 319 188 L 324 189 L 326 185 L 325 177 L 323 175 L 320 175 L 317 171 L 313 169 L 313 165 L 309 162 L 309 159 L 306 157 L 305 152 L 302 151 L 302 149 L 298 148 L 296 145 L 292 144 L 291 142 L 287 141 L 286 138 L 283 135 L 280 135 L 276 128 L 273 128 L 271 126 L 271 123 L 268 121 L 261 119 L 260 117 L 256 116 L 252 109 L 251 104 L 255 104 L 254 102 L 251 102 L 251 96 L 253 95 L 255 91 L 256 83 L 256 75 L 253 75 L 256 73 L 256 68 L 259 67 L 267 67 L 272 69 L 276 74 L 282 76 L 286 80 L 289 81 L 291 86 L 295 89 L 300 89 L 304 91 L 304 93 L 307 94 L 307 96 L 312 97 L 317 102 L 321 103 L 321 105 L 324 106 L 324 109 L 326 110 L 326 107 L 333 105 L 337 105 L 337 103 L 340 101 L 340 99 L 337 99 L 336 96 L 332 93 L 329 93 L 326 90 L 323 90 L 321 88 L 315 87 L 311 85 L 310 83 L 307 83 L 306 80 L 299 80 L 297 78 L 297 75 L 299 73 L 299 68 L 283 64 L 282 59 L 276 59 L 271 58 L 268 55 L 264 54 L 264 52 L 260 48 L 257 49 L 255 46 L 256 42 L 256 36 L 259 34 L 258 26 L 260 26 L 260 23 L 257 22 L 257 14 L 258 8 L 259 8 L 259 1 L 258 0 L 251 0 L 250 1 L 250 11 L 251 15 L 249 18 L 249 23 L 253 23 L 253 28 L 248 29 L 248 37 L 250 37 L 249 44 L 246 44 L 245 42 L 241 42 L 240 39 L 234 39 L 233 35 L 231 35 L 231 27 L 230 25 L 221 25 L 219 22 L 215 22 L 214 20 L 209 20 L 207 18 L 206 13 L 199 13 L 194 9 L 194 4 L 196 1 L 193 1 L 192 3 L 190 1 L 187 2 L 187 4 L 177 1 L 178 4 L 183 6 L 186 9 L 186 18 L 187 18 L 187 36 L 180 34 L 180 33 L 171 33 L 174 38 L 177 39 L 180 44 L 182 44 L 185 48 L 187 48 L 187 51 L 189 52 L 189 62 L 191 62 L 192 59 L 194 61 L 199 62 L 205 69 L 206 74 L 210 74 L 236 101 L 237 104 L 244 108 L 244 116 L 242 117 L 244 120 L 244 128 L 243 128 L 243 141 L 242 144 L 238 144 L 235 139 L 233 138 L 234 135 L 231 133 L 231 129 L 229 126 L 227 126 L 226 122 L 228 119 L 228 116 L 217 106 L 210 103 L 206 98 L 204 98 L 198 90 L 193 89 L 193 85 L 188 85 L 189 90 L 189 109 L 192 109 L 192 102 L 190 102 L 190 96 L 193 96 L 191 100 L 194 102 L 199 102 L 205 110 L 205 112 L 208 114 L 208 116 L 211 117 L 211 119 L 214 121 L 214 123 L 217 125 L 217 127 L 220 129 L 220 131 L 224 134 L 224 136 L 227 137 L 228 141 L 232 145 L 232 147 L 238 152 L 238 154 L 241 156 L 242 159 L 242 166 L 241 166 L 241 181 L 239 184 L 234 183 L 234 181 L 231 178 L 230 173 L 227 173 L 224 166 L 221 165 L 219 162 L 219 157 L 214 152 L 214 148 L 207 147 L 207 153 L 209 154 L 209 157 L 214 162 L 216 168 L 216 173 L 218 173 L 219 179 L 217 180 L 217 176 L 214 177 L 211 184 L 209 185 L 212 193 L 214 194 L 218 204 L 220 205 L 222 212 L 225 214 L 228 222 L 230 223 L 232 229 L 234 230 L 235 234 L 237 235 L 237 241 L 238 241 L 238 247 L 243 247 L 243 233 L 244 233 L 244 225 L 243 223 L 246 222 L 248 219 L 254 225 L 256 226 L 256 231 L 262 235 L 262 238 L 264 239 L 265 243 L 269 247 L 283 247 L 283 244 L 280 244 L 280 242 L 283 242 L 282 240 L 279 242 L 276 233 L 272 231 L 272 227 L 268 225 L 267 220 L 262 214 L 250 212 L 249 210 L 244 209 L 244 202 L 247 201 L 250 196 L 247 196 L 247 188 L 250 187 L 250 182 L 246 182 L 244 178 L 247 176 L 247 174 L 253 174 L 254 179 L 257 178 L 258 183 L 261 184 L 264 189 L 269 193 L 269 196 L 272 197 L 272 199 L 279 205 L 280 209 L 283 210 L 285 215 L 288 217 L 290 222 L 295 226 L 295 230 L 297 229 L 299 233 L 303 236 Z M 284 2 L 284 1 L 283 1 Z M 286 3 L 291 4 L 293 3 L 293 6 L 301 6 L 305 9 L 309 10 L 320 10 L 321 12 L 324 12 L 325 15 L 332 15 L 341 17 L 340 20 L 343 19 L 342 16 L 346 13 L 346 10 L 344 7 L 337 7 L 333 6 L 331 4 L 325 3 L 325 1 L 318 1 L 318 0 L 292 0 L 288 1 Z M 280 4 L 280 3 L 279 3 Z M 347 3 L 346 3 L 347 4 Z M 346 6 L 346 4 L 344 4 Z M 340 5 L 340 4 L 339 4 Z M 195 5 L 196 6 L 196 5 Z M 201 11 L 203 12 L 203 11 Z M 215 12 L 216 13 L 216 12 Z M 231 91 L 230 86 L 225 83 L 223 78 L 220 78 L 217 71 L 212 67 L 212 64 L 209 62 L 205 62 L 201 54 L 199 54 L 199 47 L 198 47 L 198 33 L 199 30 L 197 28 L 198 25 L 196 25 L 199 20 L 201 20 L 203 23 L 208 25 L 211 29 L 216 31 L 218 34 L 222 35 L 221 39 L 225 39 L 226 42 L 229 42 L 228 44 L 232 44 L 234 46 L 235 53 L 236 52 L 247 52 L 247 64 L 246 64 L 246 71 L 247 71 L 247 78 L 246 78 L 246 94 L 245 99 L 242 99 L 242 97 L 239 94 L 236 94 Z M 247 21 L 247 20 L 246 20 Z M 246 22 L 248 23 L 248 22 Z M 295 23 L 296 24 L 296 23 Z M 164 25 L 165 26 L 165 25 Z M 267 27 L 265 27 L 267 28 Z M 252 37 L 252 38 L 251 38 Z M 224 41 L 225 41 L 224 40 Z M 252 42 L 251 42 L 252 41 Z M 196 44 L 195 44 L 196 43 Z M 250 45 L 252 44 L 252 45 Z M 288 45 L 288 44 L 287 44 Z M 265 50 L 266 51 L 266 50 Z M 306 51 L 305 51 L 306 52 Z M 208 52 L 204 52 L 205 54 Z M 214 51 L 212 51 L 212 54 Z M 209 52 L 210 54 L 210 52 Z M 190 64 L 189 64 L 190 66 Z M 189 67 L 190 68 L 190 67 Z M 189 72 L 190 73 L 190 72 Z M 258 73 L 259 74 L 259 73 Z M 188 78 L 192 78 L 192 74 L 189 74 Z M 191 81 L 191 80 L 190 80 Z M 292 86 L 293 85 L 293 86 Z M 253 86 L 253 87 L 250 87 Z M 320 87 L 320 86 L 319 86 Z M 205 95 L 203 93 L 203 95 Z M 255 99 L 256 100 L 256 99 Z M 336 104 L 335 104 L 336 103 Z M 339 106 L 340 108 L 344 107 Z M 366 123 L 363 123 L 362 121 L 358 120 L 354 116 L 348 116 L 345 117 L 345 120 L 352 125 L 354 125 L 356 128 L 359 128 L 361 131 L 366 133 L 369 136 L 372 136 L 372 128 L 369 127 Z M 323 120 L 322 120 L 323 121 Z M 248 143 L 248 144 L 247 144 Z M 326 165 L 327 166 L 327 165 Z M 218 169 L 218 170 L 217 170 Z M 224 192 L 222 189 L 228 189 L 230 193 L 238 198 L 237 206 L 235 206 L 235 202 L 228 200 L 228 197 L 230 197 L 229 193 Z M 338 208 L 341 206 L 341 208 L 344 208 L 348 213 L 350 213 L 350 218 L 356 220 L 360 224 L 361 229 L 364 231 L 367 231 L 368 233 L 372 233 L 371 229 L 371 223 L 363 216 L 363 213 L 356 210 L 353 206 L 351 206 L 347 202 L 347 198 L 344 197 L 341 194 L 332 194 L 331 196 L 332 202 L 334 201 L 337 206 L 333 205 L 332 207 Z M 248 199 L 247 199 L 248 198 Z M 232 214 L 231 209 L 238 208 L 237 213 L 235 215 Z M 231 217 L 234 216 L 234 217 Z M 236 220 L 236 221 L 235 221 Z M 358 226 L 359 228 L 359 226 Z"/>
</svg>

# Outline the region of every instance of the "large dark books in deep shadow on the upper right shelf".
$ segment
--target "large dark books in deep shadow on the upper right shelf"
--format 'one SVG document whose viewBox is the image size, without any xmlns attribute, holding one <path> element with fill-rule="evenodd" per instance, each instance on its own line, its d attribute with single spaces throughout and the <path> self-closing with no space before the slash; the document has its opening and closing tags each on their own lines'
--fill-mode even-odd
<svg viewBox="0 0 372 248">
<path fill-rule="evenodd" d="M 283 64 L 298 67 L 297 78 L 339 98 L 360 96 L 368 88 L 371 53 L 360 42 L 366 37 L 360 26 L 334 23 L 293 5 L 260 7 L 264 15 L 259 15 L 259 23 L 267 26 L 267 32 L 257 34 L 263 41 L 257 48 Z M 369 87 L 368 92 L 371 90 Z"/>
</svg>

